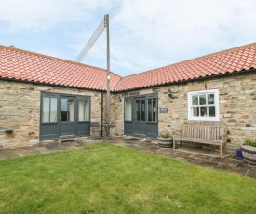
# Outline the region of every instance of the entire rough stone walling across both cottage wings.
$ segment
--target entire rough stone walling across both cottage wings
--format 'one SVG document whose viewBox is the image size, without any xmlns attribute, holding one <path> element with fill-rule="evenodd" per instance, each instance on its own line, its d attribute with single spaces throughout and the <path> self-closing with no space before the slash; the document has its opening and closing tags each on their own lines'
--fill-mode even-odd
<svg viewBox="0 0 256 214">
<path fill-rule="evenodd" d="M 151 87 L 141 90 L 111 94 L 112 136 L 124 133 L 124 98 L 135 95 L 158 94 L 159 108 L 168 108 L 168 113 L 158 111 L 158 131 L 176 132 L 182 123 L 208 123 L 188 121 L 187 92 L 219 89 L 220 121 L 210 122 L 228 127 L 229 142 L 241 144 L 244 138 L 256 138 L 256 74 L 233 74 L 209 78 L 204 81 L 191 81 Z M 168 89 L 172 97 L 168 97 Z M 66 87 L 48 87 L 29 83 L 0 80 L 0 148 L 31 146 L 39 142 L 40 94 L 41 92 L 91 96 L 91 121 L 99 122 L 101 132 L 101 107 L 103 104 L 103 124 L 106 118 L 106 93 Z M 6 134 L 7 129 L 14 130 Z M 103 128 L 105 135 L 105 128 Z M 97 133 L 96 133 L 97 135 Z"/>
</svg>

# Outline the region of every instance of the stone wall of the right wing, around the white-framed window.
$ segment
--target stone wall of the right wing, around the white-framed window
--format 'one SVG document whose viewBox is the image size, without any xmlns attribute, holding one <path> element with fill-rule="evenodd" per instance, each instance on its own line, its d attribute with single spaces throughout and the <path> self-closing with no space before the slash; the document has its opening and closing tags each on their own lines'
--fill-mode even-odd
<svg viewBox="0 0 256 214">
<path fill-rule="evenodd" d="M 220 121 L 188 121 L 187 92 L 205 89 L 219 89 Z M 168 89 L 172 97 L 168 97 Z M 152 87 L 131 92 L 115 94 L 132 96 L 135 94 L 158 93 L 158 130 L 177 132 L 182 123 L 221 124 L 228 128 L 228 141 L 234 144 L 243 143 L 244 138 L 256 138 L 256 74 L 233 74 L 204 81 L 191 81 L 184 84 L 173 84 Z M 115 101 L 115 135 L 123 134 L 124 98 L 121 103 Z M 168 108 L 168 113 L 159 113 L 159 108 Z"/>
</svg>

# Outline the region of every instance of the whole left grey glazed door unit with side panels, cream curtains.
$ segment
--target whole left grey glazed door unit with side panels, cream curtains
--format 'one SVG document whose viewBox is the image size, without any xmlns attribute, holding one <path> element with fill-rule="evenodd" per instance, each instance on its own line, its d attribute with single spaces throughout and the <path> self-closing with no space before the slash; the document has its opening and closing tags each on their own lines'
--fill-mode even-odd
<svg viewBox="0 0 256 214">
<path fill-rule="evenodd" d="M 90 135 L 90 97 L 41 94 L 40 140 Z"/>
</svg>

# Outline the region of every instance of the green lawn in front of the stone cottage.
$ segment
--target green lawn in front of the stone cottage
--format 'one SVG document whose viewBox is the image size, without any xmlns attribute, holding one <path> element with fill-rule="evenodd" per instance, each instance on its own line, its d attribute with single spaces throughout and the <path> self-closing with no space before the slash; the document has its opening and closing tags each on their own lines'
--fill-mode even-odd
<svg viewBox="0 0 256 214">
<path fill-rule="evenodd" d="M 256 180 L 111 144 L 0 161 L 0 213 L 255 213 Z"/>
</svg>

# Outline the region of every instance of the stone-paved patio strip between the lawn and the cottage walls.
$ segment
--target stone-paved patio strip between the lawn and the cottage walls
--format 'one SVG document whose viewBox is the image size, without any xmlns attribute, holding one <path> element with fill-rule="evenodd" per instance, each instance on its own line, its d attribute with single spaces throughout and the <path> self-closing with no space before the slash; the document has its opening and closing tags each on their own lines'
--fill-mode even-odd
<svg viewBox="0 0 256 214">
<path fill-rule="evenodd" d="M 167 156 L 169 158 L 189 162 L 195 165 L 215 168 L 256 179 L 256 167 L 250 166 L 244 163 L 242 160 L 237 159 L 235 153 L 227 154 L 221 158 L 219 153 L 214 151 L 202 149 L 196 150 L 186 147 L 173 150 L 170 148 L 159 147 L 156 141 L 129 137 L 110 138 L 107 140 L 93 140 L 88 138 L 85 140 L 74 140 L 66 142 L 40 143 L 39 145 L 26 148 L 0 149 L 0 164 L 1 160 L 4 159 L 18 158 L 34 154 L 47 154 L 99 143 L 113 143 L 117 146 L 128 147 L 150 154 Z"/>
</svg>

